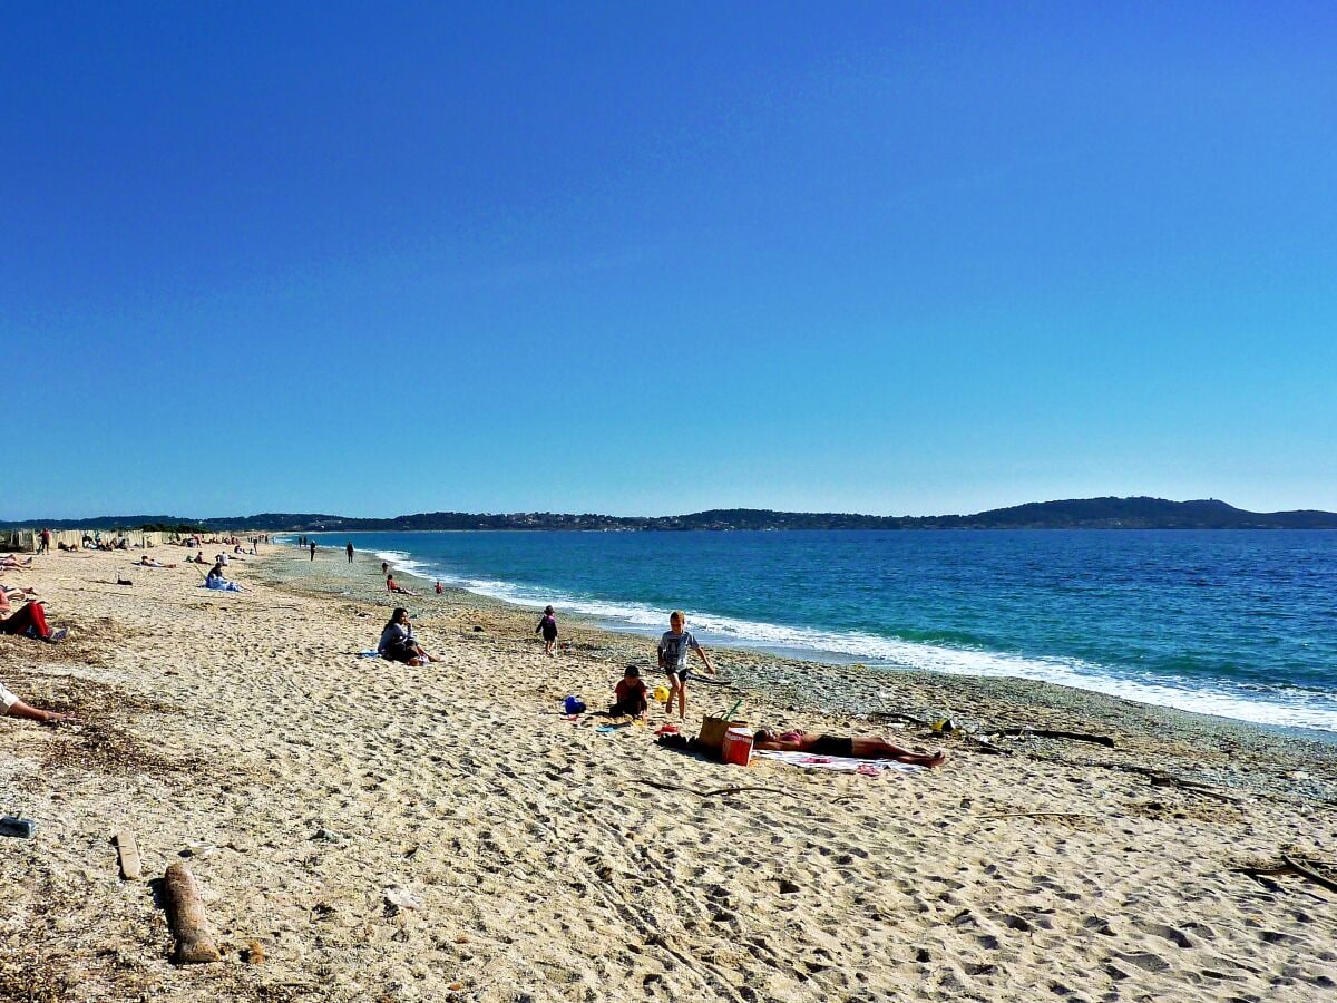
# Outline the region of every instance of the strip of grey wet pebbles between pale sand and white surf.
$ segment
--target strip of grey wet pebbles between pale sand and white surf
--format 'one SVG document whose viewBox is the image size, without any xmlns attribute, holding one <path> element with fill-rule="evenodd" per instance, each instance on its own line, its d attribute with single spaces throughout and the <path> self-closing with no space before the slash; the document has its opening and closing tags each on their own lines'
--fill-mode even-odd
<svg viewBox="0 0 1337 1003">
<path fill-rule="evenodd" d="M 283 544 L 275 544 L 282 547 Z M 287 550 L 297 551 L 295 547 Z M 340 552 L 340 562 L 344 560 Z M 381 556 L 372 551 L 360 551 L 354 567 L 365 583 L 349 582 L 342 576 L 326 576 L 320 568 L 320 559 L 313 574 L 312 563 L 295 560 L 290 564 L 266 564 L 266 574 L 279 587 L 310 588 L 314 594 L 332 595 L 341 599 L 362 599 L 378 604 L 402 604 L 418 618 L 433 619 L 437 604 L 447 604 L 452 615 L 463 611 L 473 614 L 473 625 L 485 625 L 488 633 L 504 633 L 508 642 L 517 645 L 533 643 L 533 622 L 539 611 L 528 610 L 519 603 L 511 603 L 496 596 L 469 591 L 457 586 L 445 586 L 445 595 L 431 594 L 432 579 L 418 578 L 428 586 L 416 598 L 389 598 L 380 576 Z M 390 562 L 393 567 L 393 562 Z M 283 568 L 285 572 L 274 574 Z M 412 574 L 404 570 L 404 574 Z M 357 587 L 349 587 L 357 586 Z M 608 629 L 598 617 L 588 614 L 563 614 L 560 623 L 564 638 L 575 637 L 579 650 L 594 661 L 615 667 L 634 663 L 640 669 L 647 685 L 656 683 L 660 677 L 655 667 L 654 633 Z M 691 625 L 689 623 L 689 627 Z M 374 639 L 373 639 L 374 641 Z M 711 682 L 694 673 L 691 710 L 701 713 L 699 701 L 710 699 L 715 691 L 729 691 L 733 697 L 762 701 L 767 706 L 783 707 L 790 714 L 804 714 L 814 721 L 836 722 L 849 729 L 864 723 L 873 728 L 880 722 L 931 722 L 951 717 L 957 722 L 973 725 L 979 733 L 988 734 L 993 729 L 1034 726 L 1070 730 L 1108 732 L 1135 741 L 1150 736 L 1165 736 L 1171 744 L 1183 745 L 1201 742 L 1211 749 L 1246 749 L 1250 758 L 1275 758 L 1290 764 L 1281 773 L 1293 772 L 1310 761 L 1326 762 L 1332 781 L 1305 786 L 1305 794 L 1337 804 L 1337 734 L 1312 729 L 1292 729 L 1286 726 L 1261 725 L 1235 718 L 1202 714 L 1178 707 L 1155 703 L 1142 703 L 1123 697 L 1084 690 L 1062 683 L 1038 679 L 1008 677 L 971 677 L 951 673 L 936 673 L 917 669 L 870 669 L 864 662 L 826 662 L 813 658 L 796 658 L 770 653 L 762 649 L 734 647 L 729 645 L 707 645 L 722 679 Z M 611 689 L 611 683 L 610 683 Z M 576 694 L 587 695 L 587 694 Z M 594 706 L 594 705 L 591 705 Z M 727 706 L 727 703 L 725 705 Z M 715 707 L 722 713 L 725 706 Z M 746 710 L 745 703 L 745 710 Z M 651 714 L 655 714 L 651 707 Z M 940 741 L 923 728 L 923 741 Z M 1259 774 L 1229 769 L 1194 768 L 1194 773 L 1211 777 L 1213 782 L 1242 785 L 1251 789 L 1292 792 L 1296 781 L 1285 780 L 1271 784 L 1262 782 Z"/>
</svg>

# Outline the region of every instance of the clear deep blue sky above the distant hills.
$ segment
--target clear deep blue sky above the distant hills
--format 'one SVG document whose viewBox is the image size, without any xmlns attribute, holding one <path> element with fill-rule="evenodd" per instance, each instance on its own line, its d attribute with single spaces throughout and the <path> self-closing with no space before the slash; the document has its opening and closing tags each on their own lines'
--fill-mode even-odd
<svg viewBox="0 0 1337 1003">
<path fill-rule="evenodd" d="M 0 518 L 1337 510 L 1334 52 L 1328 3 L 7 4 Z"/>
</svg>

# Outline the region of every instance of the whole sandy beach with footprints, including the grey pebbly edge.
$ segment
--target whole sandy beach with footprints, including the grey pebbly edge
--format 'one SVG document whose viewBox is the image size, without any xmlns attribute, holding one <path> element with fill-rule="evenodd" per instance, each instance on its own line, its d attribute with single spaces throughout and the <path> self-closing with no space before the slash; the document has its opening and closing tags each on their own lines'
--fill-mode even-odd
<svg viewBox="0 0 1337 1003">
<path fill-rule="evenodd" d="M 924 746 L 940 740 L 916 722 L 949 711 L 1116 742 L 743 770 L 658 748 L 658 714 L 563 718 L 568 694 L 611 699 L 628 661 L 654 685 L 648 639 L 564 619 L 574 643 L 548 658 L 527 611 L 451 591 L 404 600 L 441 662 L 360 658 L 396 604 L 378 564 L 266 551 L 231 570 L 239 595 L 138 554 L 5 575 L 71 638 L 0 637 L 0 682 L 84 723 L 0 721 L 0 812 L 39 826 L 0 840 L 0 999 L 1337 998 L 1337 893 L 1234 869 L 1337 861 L 1332 746 L 1040 683 L 718 651 L 727 682 L 695 686 L 693 713 L 743 694 L 753 725 Z M 114 829 L 146 877 L 187 861 L 222 962 L 171 963 Z"/>
</svg>

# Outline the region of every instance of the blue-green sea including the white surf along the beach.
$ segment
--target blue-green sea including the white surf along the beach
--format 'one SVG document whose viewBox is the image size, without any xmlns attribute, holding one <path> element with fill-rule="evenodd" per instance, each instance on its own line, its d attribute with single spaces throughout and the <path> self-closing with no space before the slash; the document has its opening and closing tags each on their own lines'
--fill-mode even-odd
<svg viewBox="0 0 1337 1003">
<path fill-rule="evenodd" d="M 428 532 L 318 536 L 405 574 L 658 634 L 1017 677 L 1337 732 L 1337 534 Z"/>
</svg>

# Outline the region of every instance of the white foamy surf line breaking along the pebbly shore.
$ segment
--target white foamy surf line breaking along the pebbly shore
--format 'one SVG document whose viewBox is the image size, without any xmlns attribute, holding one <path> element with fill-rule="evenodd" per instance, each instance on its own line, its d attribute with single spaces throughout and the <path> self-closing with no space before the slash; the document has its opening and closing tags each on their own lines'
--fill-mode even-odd
<svg viewBox="0 0 1337 1003">
<path fill-rule="evenodd" d="M 541 607 L 552 603 L 562 612 L 598 618 L 610 627 L 634 633 L 658 634 L 664 629 L 666 611 L 656 606 L 620 603 L 562 595 L 552 590 L 485 578 L 465 578 L 440 572 L 429 562 L 417 560 L 404 551 L 378 551 L 377 556 L 406 575 L 427 580 L 440 579 L 456 588 L 519 604 Z M 703 641 L 734 647 L 753 647 L 817 661 L 834 658 L 860 661 L 885 669 L 913 669 L 951 675 L 984 675 L 995 678 L 1034 679 L 1036 682 L 1091 690 L 1138 703 L 1190 710 L 1198 714 L 1250 721 L 1285 728 L 1312 728 L 1337 732 L 1337 698 L 1313 691 L 1267 689 L 1261 695 L 1257 686 L 1231 686 L 1165 677 L 1131 674 L 1070 658 L 1028 658 L 977 649 L 947 647 L 861 631 L 824 631 L 778 623 L 743 621 L 710 612 L 687 610 L 694 633 Z"/>
</svg>

